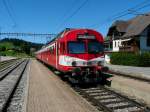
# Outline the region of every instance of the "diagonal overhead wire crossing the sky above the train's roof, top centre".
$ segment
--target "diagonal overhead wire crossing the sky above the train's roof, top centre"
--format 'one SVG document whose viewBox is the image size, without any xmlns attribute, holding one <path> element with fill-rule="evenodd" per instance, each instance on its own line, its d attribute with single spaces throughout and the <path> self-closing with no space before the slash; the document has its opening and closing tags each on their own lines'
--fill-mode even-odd
<svg viewBox="0 0 150 112">
<path fill-rule="evenodd" d="M 76 15 L 80 9 L 85 6 L 85 4 L 88 2 L 89 0 L 85 0 L 70 16 L 68 16 L 59 26 L 59 29 L 67 22 L 69 21 L 74 15 Z"/>
</svg>

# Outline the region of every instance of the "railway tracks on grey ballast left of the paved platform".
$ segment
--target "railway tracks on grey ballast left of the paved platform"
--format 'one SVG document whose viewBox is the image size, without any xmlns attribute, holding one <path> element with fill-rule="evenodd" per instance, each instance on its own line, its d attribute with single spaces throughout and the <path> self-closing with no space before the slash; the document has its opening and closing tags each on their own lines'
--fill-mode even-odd
<svg viewBox="0 0 150 112">
<path fill-rule="evenodd" d="M 0 112 L 7 111 L 28 61 L 27 59 L 19 60 L 13 66 L 0 71 Z"/>
</svg>

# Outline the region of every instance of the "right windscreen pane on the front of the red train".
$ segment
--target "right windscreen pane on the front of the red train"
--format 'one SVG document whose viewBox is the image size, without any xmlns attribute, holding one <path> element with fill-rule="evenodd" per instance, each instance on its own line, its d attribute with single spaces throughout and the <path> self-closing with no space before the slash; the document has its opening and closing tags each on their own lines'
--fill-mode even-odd
<svg viewBox="0 0 150 112">
<path fill-rule="evenodd" d="M 103 44 L 95 41 L 88 43 L 88 53 L 100 53 L 103 51 L 104 51 Z"/>
</svg>

